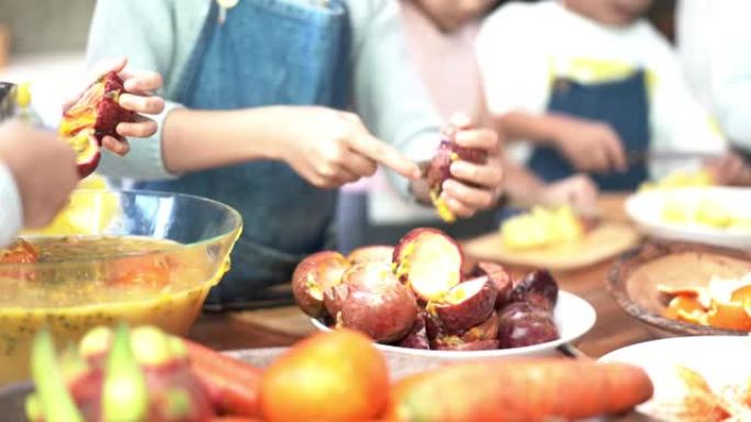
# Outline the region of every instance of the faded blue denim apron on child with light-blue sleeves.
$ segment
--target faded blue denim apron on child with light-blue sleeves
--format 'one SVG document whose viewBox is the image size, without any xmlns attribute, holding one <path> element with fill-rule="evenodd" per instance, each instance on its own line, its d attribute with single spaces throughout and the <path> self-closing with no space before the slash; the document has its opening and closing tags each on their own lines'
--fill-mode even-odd
<svg viewBox="0 0 751 422">
<path fill-rule="evenodd" d="M 198 110 L 345 109 L 348 39 L 344 0 L 240 0 L 226 14 L 212 0 L 176 100 Z M 314 187 L 283 162 L 254 161 L 138 187 L 209 197 L 243 215 L 232 269 L 212 289 L 206 310 L 289 303 L 289 288 L 280 284 L 305 255 L 333 247 L 336 191 Z"/>
</svg>

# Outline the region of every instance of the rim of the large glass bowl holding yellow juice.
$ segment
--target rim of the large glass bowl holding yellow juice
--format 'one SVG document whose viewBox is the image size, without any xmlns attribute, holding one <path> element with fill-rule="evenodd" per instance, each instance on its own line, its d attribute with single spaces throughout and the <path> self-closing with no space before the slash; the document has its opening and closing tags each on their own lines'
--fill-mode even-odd
<svg viewBox="0 0 751 422">
<path fill-rule="evenodd" d="M 222 238 L 225 238 L 227 236 L 232 236 L 233 232 L 235 232 L 233 243 L 239 238 L 240 232 L 243 230 L 243 216 L 235 209 L 234 207 L 221 203 L 218 201 L 199 196 L 199 195 L 192 195 L 192 194 L 186 194 L 186 193 L 178 193 L 178 192 L 166 192 L 166 191 L 150 191 L 150 190 L 130 190 L 130 189 L 76 189 L 71 193 L 71 197 L 74 195 L 78 194 L 83 194 L 83 195 L 103 195 L 103 194 L 115 194 L 119 197 L 120 196 L 150 196 L 150 197 L 181 197 L 181 198 L 187 198 L 191 201 L 199 201 L 202 203 L 211 204 L 212 206 L 216 206 L 217 208 L 223 208 L 224 210 L 228 212 L 229 215 L 233 217 L 234 224 L 232 225 L 232 228 L 220 233 L 216 236 L 213 236 L 211 238 L 202 239 L 195 242 L 190 242 L 190 243 L 177 243 L 178 247 L 170 249 L 170 250 L 156 250 L 156 251 L 144 251 L 144 252 L 135 252 L 135 253 L 117 253 L 113 254 L 112 256 L 108 256 L 107 259 L 88 259 L 88 258 L 81 258 L 81 259 L 75 259 L 75 260 L 65 260 L 65 261 L 56 261 L 56 262 L 35 262 L 35 263 L 3 263 L 0 262 L 0 269 L 3 267 L 12 267 L 12 269 L 24 269 L 24 267 L 34 267 L 34 269 L 40 269 L 40 267 L 45 267 L 45 266 L 54 266 L 54 265 L 65 265 L 65 264 L 83 264 L 88 262 L 104 262 L 104 261 L 116 261 L 116 260 L 122 260 L 122 259 L 131 259 L 131 258 L 144 258 L 144 256 L 160 256 L 160 255 L 166 255 L 166 254 L 171 254 L 175 253 L 176 251 L 184 251 L 188 249 L 192 248 L 200 248 L 204 247 L 210 243 L 214 243 L 218 241 Z M 97 235 L 94 235 L 96 237 Z M 40 235 L 25 235 L 25 236 L 18 236 L 20 239 L 34 239 L 34 238 L 42 238 L 46 236 L 40 236 Z M 58 236 L 59 238 L 65 238 L 66 236 Z M 75 237 L 75 236 L 68 236 L 68 237 Z M 82 236 L 87 237 L 87 236 Z M 152 237 L 146 237 L 146 238 L 152 238 Z M 153 238 L 153 239 L 159 239 L 159 238 Z M 2 250 L 2 248 L 0 248 Z"/>
</svg>

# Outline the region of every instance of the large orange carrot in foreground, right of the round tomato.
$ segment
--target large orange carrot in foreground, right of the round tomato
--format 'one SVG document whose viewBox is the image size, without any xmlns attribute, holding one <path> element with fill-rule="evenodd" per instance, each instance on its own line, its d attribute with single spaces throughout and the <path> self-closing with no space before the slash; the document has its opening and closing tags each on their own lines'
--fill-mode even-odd
<svg viewBox="0 0 751 422">
<path fill-rule="evenodd" d="M 457 364 L 396 383 L 394 421 L 538 422 L 626 411 L 652 396 L 652 383 L 626 364 L 558 358 Z"/>
</svg>

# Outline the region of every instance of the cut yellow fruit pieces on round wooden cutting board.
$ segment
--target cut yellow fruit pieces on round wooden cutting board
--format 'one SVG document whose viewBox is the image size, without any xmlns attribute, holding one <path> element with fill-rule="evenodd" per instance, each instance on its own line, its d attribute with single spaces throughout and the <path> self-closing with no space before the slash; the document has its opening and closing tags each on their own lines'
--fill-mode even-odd
<svg viewBox="0 0 751 422">
<path fill-rule="evenodd" d="M 591 229 L 591 221 L 578 216 L 570 206 L 554 209 L 536 206 L 505 220 L 501 236 L 508 249 L 535 250 L 574 243 Z"/>
</svg>

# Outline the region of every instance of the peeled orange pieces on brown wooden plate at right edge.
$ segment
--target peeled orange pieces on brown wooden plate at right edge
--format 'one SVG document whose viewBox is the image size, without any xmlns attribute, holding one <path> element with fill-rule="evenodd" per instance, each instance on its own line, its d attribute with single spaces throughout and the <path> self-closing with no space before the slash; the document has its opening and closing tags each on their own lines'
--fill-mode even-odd
<svg viewBox="0 0 751 422">
<path fill-rule="evenodd" d="M 664 315 L 679 321 L 751 331 L 751 274 L 739 280 L 713 277 L 706 286 L 665 286 L 670 298 Z"/>
</svg>

